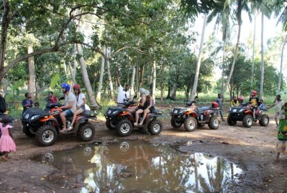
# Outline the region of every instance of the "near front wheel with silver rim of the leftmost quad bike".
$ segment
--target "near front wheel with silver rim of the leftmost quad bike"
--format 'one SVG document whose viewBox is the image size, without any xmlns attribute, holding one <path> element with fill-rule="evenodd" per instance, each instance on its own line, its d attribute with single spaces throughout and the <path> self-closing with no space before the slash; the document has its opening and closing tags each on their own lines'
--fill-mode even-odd
<svg viewBox="0 0 287 193">
<path fill-rule="evenodd" d="M 37 130 L 36 139 L 41 146 L 52 145 L 57 139 L 57 131 L 52 125 L 43 125 Z"/>
</svg>

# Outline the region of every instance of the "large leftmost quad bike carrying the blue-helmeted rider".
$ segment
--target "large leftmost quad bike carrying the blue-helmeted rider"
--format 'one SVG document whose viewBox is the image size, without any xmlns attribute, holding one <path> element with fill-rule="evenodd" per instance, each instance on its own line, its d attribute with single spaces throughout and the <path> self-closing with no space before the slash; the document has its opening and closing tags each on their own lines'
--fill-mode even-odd
<svg viewBox="0 0 287 193">
<path fill-rule="evenodd" d="M 62 112 L 61 103 L 50 103 L 46 110 L 40 108 L 30 108 L 22 115 L 23 133 L 34 137 L 42 146 L 48 146 L 55 143 L 59 131 L 63 127 L 60 113 Z M 97 113 L 85 110 L 77 116 L 73 129 L 63 134 L 77 134 L 82 141 L 90 141 L 95 136 L 95 126 L 89 121 L 97 119 Z M 67 118 L 67 125 L 72 122 L 72 117 Z"/>
</svg>

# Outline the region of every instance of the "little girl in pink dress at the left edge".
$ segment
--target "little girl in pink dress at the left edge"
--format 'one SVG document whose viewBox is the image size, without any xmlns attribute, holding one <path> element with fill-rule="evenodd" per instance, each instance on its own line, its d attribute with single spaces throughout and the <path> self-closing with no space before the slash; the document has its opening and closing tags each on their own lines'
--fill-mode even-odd
<svg viewBox="0 0 287 193">
<path fill-rule="evenodd" d="M 9 119 L 3 118 L 0 123 L 0 130 L 2 132 L 0 138 L 0 152 L 3 154 L 3 159 L 9 161 L 8 154 L 12 152 L 16 152 L 16 145 L 14 143 L 13 135 L 11 132 L 12 126 L 8 124 Z"/>
</svg>

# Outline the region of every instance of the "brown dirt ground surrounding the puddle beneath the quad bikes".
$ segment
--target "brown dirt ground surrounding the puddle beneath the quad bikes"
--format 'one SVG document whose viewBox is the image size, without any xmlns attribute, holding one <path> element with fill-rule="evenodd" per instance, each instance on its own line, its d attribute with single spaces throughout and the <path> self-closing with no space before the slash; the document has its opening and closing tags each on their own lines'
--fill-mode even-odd
<svg viewBox="0 0 287 193">
<path fill-rule="evenodd" d="M 274 119 L 271 117 L 270 120 Z M 186 132 L 183 127 L 175 130 L 169 122 L 169 119 L 164 121 L 164 130 L 159 136 L 150 136 L 135 131 L 124 139 L 172 143 L 178 145 L 179 150 L 187 154 L 206 152 L 223 156 L 244 170 L 239 177 L 239 183 L 233 185 L 232 192 L 287 192 L 287 156 L 282 155 L 279 163 L 275 161 L 277 143 L 275 121 L 270 121 L 266 128 L 259 124 L 253 125 L 252 128 L 244 128 L 241 123 L 229 126 L 226 122 L 221 122 L 218 130 L 209 130 L 206 125 L 195 132 Z M 99 121 L 95 125 L 97 134 L 93 141 L 119 139 L 115 132 L 110 132 L 106 128 L 104 122 Z M 17 152 L 10 154 L 12 157 L 10 161 L 0 161 L 0 192 L 78 191 L 77 187 L 64 190 L 57 185 L 43 181 L 43 176 L 56 172 L 56 169 L 30 161 L 30 158 L 37 154 L 72 148 L 84 144 L 83 142 L 79 141 L 76 136 L 59 136 L 55 145 L 39 147 L 34 139 L 28 138 L 21 132 L 21 125 L 16 125 L 13 133 Z"/>
</svg>

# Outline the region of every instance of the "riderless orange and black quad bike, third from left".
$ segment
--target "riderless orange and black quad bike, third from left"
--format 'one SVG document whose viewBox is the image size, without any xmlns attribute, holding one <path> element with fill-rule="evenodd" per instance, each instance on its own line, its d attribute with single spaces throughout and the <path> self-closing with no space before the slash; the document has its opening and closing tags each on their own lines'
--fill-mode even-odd
<svg viewBox="0 0 287 193">
<path fill-rule="evenodd" d="M 220 120 L 217 116 L 219 110 L 208 106 L 192 105 L 195 101 L 186 101 L 186 108 L 173 108 L 170 112 L 170 124 L 173 128 L 180 128 L 184 124 L 184 128 L 193 132 L 197 126 L 203 127 L 208 124 L 211 130 L 217 130 L 220 126 Z"/>
</svg>

